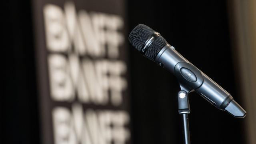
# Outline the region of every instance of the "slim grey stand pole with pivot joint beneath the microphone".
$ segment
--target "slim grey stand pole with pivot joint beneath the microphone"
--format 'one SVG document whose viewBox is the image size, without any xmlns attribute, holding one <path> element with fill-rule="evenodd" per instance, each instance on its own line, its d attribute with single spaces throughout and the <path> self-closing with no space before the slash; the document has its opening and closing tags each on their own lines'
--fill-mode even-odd
<svg viewBox="0 0 256 144">
<path fill-rule="evenodd" d="M 190 113 L 190 106 L 189 106 L 188 94 L 184 90 L 180 90 L 178 92 L 178 105 L 179 105 L 178 112 L 179 114 L 182 114 L 185 144 L 190 144 L 189 124 L 188 124 L 188 114 Z"/>
</svg>

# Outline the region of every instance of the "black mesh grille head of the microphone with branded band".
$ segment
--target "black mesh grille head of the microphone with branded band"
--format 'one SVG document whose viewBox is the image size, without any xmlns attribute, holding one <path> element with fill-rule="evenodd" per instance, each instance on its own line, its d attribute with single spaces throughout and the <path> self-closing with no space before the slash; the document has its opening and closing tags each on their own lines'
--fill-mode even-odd
<svg viewBox="0 0 256 144">
<path fill-rule="evenodd" d="M 153 61 L 158 52 L 168 44 L 158 32 L 144 24 L 138 24 L 132 30 L 129 41 L 139 52 Z"/>
</svg>

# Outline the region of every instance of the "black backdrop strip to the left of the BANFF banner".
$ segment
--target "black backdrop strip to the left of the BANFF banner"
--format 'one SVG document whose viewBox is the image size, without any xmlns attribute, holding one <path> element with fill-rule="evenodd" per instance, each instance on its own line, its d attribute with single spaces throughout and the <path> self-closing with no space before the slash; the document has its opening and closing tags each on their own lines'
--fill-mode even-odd
<svg viewBox="0 0 256 144">
<path fill-rule="evenodd" d="M 38 144 L 39 106 L 31 1 L 10 0 L 3 8 L 1 144 Z"/>
</svg>

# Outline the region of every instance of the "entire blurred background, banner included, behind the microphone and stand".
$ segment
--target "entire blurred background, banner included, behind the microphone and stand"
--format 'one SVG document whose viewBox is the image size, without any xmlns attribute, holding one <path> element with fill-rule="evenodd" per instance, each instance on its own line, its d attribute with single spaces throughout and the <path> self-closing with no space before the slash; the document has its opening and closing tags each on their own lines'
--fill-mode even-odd
<svg viewBox="0 0 256 144">
<path fill-rule="evenodd" d="M 182 144 L 176 77 L 128 43 L 140 23 L 247 111 L 234 118 L 190 93 L 191 142 L 256 143 L 255 0 L 10 0 L 4 7 L 2 144 Z"/>
</svg>

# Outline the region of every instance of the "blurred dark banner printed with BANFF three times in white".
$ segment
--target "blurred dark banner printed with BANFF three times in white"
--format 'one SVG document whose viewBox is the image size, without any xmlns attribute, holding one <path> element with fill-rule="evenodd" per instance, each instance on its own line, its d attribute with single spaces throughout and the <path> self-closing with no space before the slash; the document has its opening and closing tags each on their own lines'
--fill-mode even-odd
<svg viewBox="0 0 256 144">
<path fill-rule="evenodd" d="M 123 0 L 35 0 L 43 144 L 130 144 Z"/>
</svg>

